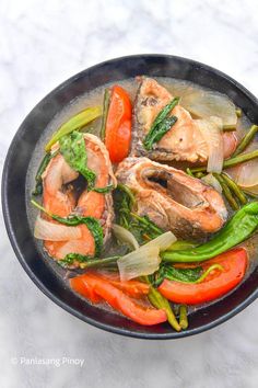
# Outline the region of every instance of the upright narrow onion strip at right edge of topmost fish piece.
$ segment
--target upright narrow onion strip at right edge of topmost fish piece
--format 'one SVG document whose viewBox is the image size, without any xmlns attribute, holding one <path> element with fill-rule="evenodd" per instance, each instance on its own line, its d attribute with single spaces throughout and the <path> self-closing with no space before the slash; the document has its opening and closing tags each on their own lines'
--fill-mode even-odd
<svg viewBox="0 0 258 388">
<path fill-rule="evenodd" d="M 196 123 L 209 147 L 207 171 L 221 173 L 224 160 L 222 121 L 212 116 L 209 119 L 197 119 Z"/>
</svg>

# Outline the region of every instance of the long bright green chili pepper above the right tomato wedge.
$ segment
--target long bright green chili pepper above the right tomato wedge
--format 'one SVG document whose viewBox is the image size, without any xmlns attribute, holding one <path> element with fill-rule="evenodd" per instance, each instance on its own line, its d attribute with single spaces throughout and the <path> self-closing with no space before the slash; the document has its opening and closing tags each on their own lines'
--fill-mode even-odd
<svg viewBox="0 0 258 388">
<path fill-rule="evenodd" d="M 165 262 L 199 262 L 214 258 L 246 240 L 258 228 L 258 202 L 243 206 L 215 237 L 194 249 L 165 251 L 161 258 Z"/>
</svg>

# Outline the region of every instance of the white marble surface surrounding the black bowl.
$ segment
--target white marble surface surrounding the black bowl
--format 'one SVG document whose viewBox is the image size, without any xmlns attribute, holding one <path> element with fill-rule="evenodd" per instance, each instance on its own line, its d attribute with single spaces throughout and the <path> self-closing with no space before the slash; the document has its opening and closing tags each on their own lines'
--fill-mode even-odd
<svg viewBox="0 0 258 388">
<path fill-rule="evenodd" d="M 257 11 L 256 0 L 1 0 L 1 168 L 31 109 L 104 59 L 138 53 L 190 57 L 257 95 Z M 257 301 L 194 338 L 121 338 L 79 321 L 36 288 L 14 256 L 2 217 L 0 236 L 1 387 L 257 387 Z M 24 365 L 20 358 L 63 356 L 83 358 L 83 366 Z"/>
</svg>

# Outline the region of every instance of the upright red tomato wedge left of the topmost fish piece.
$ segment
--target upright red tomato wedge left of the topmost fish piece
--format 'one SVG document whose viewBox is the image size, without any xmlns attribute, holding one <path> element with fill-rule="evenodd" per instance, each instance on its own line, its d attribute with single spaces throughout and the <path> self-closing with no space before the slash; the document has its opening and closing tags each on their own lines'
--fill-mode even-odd
<svg viewBox="0 0 258 388">
<path fill-rule="evenodd" d="M 119 163 L 129 153 L 131 110 L 128 93 L 121 87 L 114 85 L 105 128 L 105 145 L 114 163 Z"/>
</svg>

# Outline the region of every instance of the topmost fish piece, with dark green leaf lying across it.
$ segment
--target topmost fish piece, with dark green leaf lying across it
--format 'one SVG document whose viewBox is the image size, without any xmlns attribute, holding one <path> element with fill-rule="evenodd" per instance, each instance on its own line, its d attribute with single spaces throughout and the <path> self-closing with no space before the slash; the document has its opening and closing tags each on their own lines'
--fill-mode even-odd
<svg viewBox="0 0 258 388">
<path fill-rule="evenodd" d="M 195 119 L 183 106 L 176 105 L 172 115 L 177 122 L 146 151 L 142 141 L 159 112 L 173 99 L 173 95 L 156 80 L 139 77 L 140 81 L 132 115 L 132 146 L 130 156 L 149 157 L 157 161 L 206 162 L 209 149 Z"/>
</svg>

